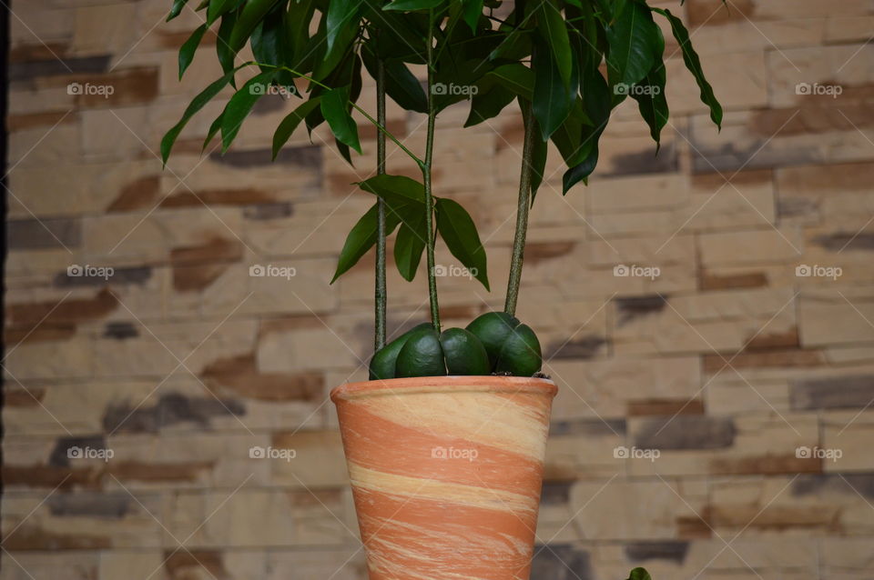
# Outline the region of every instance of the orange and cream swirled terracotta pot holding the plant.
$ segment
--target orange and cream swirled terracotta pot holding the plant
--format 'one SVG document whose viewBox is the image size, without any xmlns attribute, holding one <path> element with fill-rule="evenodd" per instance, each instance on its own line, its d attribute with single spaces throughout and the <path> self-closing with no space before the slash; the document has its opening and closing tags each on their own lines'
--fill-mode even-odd
<svg viewBox="0 0 874 580">
<path fill-rule="evenodd" d="M 556 390 L 434 376 L 331 391 L 371 580 L 527 580 Z"/>
</svg>

